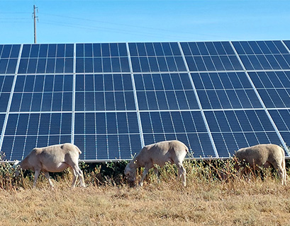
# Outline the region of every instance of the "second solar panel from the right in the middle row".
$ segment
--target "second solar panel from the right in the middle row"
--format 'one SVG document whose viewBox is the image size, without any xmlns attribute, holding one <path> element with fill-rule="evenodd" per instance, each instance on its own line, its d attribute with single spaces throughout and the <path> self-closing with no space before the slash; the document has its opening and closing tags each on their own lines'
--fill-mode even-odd
<svg viewBox="0 0 290 226">
<path fill-rule="evenodd" d="M 203 109 L 262 107 L 244 72 L 191 73 Z"/>
</svg>

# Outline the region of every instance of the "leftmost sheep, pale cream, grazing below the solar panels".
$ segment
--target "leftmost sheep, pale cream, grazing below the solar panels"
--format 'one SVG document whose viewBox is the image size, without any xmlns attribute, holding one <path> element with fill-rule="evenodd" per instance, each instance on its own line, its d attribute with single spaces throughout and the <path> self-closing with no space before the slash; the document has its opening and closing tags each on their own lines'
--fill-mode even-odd
<svg viewBox="0 0 290 226">
<path fill-rule="evenodd" d="M 79 169 L 79 154 L 81 153 L 81 150 L 72 143 L 33 148 L 21 162 L 16 162 L 13 167 L 20 165 L 21 169 L 32 169 L 35 172 L 33 187 L 36 185 L 40 171 L 44 172 L 52 189 L 53 184 L 49 172 L 62 172 L 67 167 L 71 167 L 74 174 L 72 187 L 75 186 L 77 177 L 81 186 L 85 186 L 82 170 Z"/>
</svg>

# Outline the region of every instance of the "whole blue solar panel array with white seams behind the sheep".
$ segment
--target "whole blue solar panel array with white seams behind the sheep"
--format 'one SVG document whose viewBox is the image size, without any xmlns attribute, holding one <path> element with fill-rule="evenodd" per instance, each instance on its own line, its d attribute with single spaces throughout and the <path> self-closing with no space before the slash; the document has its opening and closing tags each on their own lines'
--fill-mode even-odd
<svg viewBox="0 0 290 226">
<path fill-rule="evenodd" d="M 0 148 L 74 143 L 87 162 L 177 139 L 229 157 L 290 139 L 290 41 L 0 45 Z M 289 153 L 286 153 L 289 156 Z"/>
</svg>

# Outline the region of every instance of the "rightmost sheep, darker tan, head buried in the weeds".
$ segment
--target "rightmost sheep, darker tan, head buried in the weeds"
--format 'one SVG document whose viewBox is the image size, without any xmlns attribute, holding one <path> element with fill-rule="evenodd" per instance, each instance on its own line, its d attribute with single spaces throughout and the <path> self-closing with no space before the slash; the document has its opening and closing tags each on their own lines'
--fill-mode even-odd
<svg viewBox="0 0 290 226">
<path fill-rule="evenodd" d="M 274 144 L 259 144 L 249 148 L 241 148 L 235 153 L 239 163 L 247 163 L 255 167 L 274 167 L 277 169 L 282 185 L 286 185 L 285 153 L 283 148 Z M 240 166 L 237 165 L 237 168 Z"/>
</svg>

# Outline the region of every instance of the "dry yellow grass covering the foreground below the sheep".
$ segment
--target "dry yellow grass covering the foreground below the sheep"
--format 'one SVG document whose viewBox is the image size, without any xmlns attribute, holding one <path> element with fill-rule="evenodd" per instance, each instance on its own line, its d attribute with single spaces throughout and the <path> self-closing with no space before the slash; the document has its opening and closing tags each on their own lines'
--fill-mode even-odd
<svg viewBox="0 0 290 226">
<path fill-rule="evenodd" d="M 25 178 L 0 190 L 0 225 L 290 225 L 290 186 L 270 174 L 264 181 L 231 174 L 222 182 L 213 167 L 188 162 L 186 169 L 186 188 L 171 166 L 160 182 L 150 174 L 137 189 L 125 182 L 93 186 L 89 175 L 87 188 L 70 189 L 70 174 L 53 191 L 44 177 L 31 189 Z"/>
</svg>

